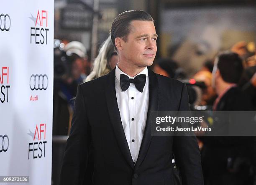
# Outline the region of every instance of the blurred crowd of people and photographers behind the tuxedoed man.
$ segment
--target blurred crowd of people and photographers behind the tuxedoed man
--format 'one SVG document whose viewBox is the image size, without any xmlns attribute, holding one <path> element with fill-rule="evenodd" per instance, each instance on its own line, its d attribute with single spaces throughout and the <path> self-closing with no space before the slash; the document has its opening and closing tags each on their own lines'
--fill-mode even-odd
<svg viewBox="0 0 256 185">
<path fill-rule="evenodd" d="M 54 135 L 68 135 L 77 85 L 109 73 L 118 63 L 110 37 L 90 61 L 78 41 L 54 42 Z M 187 84 L 191 110 L 255 111 L 255 43 L 241 41 L 210 58 L 194 76 L 187 76 L 172 58 L 156 58 L 155 73 Z M 90 89 L 88 89 L 89 91 Z M 246 124 L 246 123 L 245 123 Z M 253 185 L 254 137 L 198 137 L 205 185 Z"/>
</svg>

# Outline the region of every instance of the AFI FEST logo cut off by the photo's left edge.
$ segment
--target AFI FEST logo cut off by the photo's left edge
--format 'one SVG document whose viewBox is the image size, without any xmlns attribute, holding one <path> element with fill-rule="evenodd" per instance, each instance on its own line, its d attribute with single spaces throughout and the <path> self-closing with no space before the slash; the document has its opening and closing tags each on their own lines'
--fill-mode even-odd
<svg viewBox="0 0 256 185">
<path fill-rule="evenodd" d="M 0 66 L 0 101 L 1 103 L 8 103 L 8 94 L 9 94 L 9 67 Z"/>
</svg>

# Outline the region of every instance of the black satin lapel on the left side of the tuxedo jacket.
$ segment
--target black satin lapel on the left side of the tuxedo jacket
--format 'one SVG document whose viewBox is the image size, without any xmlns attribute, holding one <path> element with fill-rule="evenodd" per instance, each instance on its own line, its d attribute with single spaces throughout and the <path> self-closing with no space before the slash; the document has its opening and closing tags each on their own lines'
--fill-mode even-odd
<svg viewBox="0 0 256 185">
<path fill-rule="evenodd" d="M 120 117 L 120 112 L 118 109 L 118 103 L 115 93 L 115 68 L 108 73 L 107 81 L 105 84 L 105 96 L 108 106 L 108 114 L 110 117 L 111 124 L 115 133 L 116 140 L 123 153 L 125 160 L 134 169 L 133 159 L 131 157 L 131 152 L 125 137 L 123 130 L 123 125 Z"/>
</svg>

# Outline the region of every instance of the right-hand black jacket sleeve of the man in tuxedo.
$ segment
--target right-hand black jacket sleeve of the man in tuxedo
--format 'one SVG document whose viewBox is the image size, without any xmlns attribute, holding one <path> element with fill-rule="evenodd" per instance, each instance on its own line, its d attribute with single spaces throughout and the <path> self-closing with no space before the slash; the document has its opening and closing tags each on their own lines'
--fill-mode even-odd
<svg viewBox="0 0 256 185">
<path fill-rule="evenodd" d="M 183 84 L 179 111 L 189 111 L 187 87 Z M 203 185 L 201 156 L 195 135 L 174 136 L 173 151 L 183 185 Z"/>
</svg>

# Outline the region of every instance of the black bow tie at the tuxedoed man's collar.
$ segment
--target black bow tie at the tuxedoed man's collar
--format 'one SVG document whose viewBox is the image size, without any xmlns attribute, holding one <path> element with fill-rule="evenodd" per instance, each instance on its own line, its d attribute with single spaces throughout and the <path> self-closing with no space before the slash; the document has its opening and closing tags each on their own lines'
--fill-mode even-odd
<svg viewBox="0 0 256 185">
<path fill-rule="evenodd" d="M 120 74 L 120 86 L 123 91 L 126 91 L 131 83 L 134 83 L 138 91 L 142 92 L 146 84 L 146 75 L 139 74 L 134 79 L 129 79 L 125 74 Z"/>
</svg>

